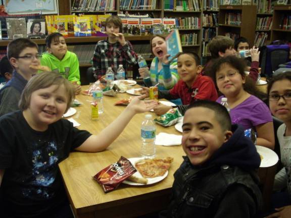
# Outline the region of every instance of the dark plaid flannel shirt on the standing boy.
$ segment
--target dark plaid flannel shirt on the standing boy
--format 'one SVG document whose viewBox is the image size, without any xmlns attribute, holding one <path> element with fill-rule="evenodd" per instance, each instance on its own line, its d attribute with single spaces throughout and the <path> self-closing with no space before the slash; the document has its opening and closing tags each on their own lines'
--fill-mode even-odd
<svg viewBox="0 0 291 218">
<path fill-rule="evenodd" d="M 129 41 L 125 42 L 124 46 L 120 42 L 111 44 L 108 40 L 97 42 L 92 59 L 97 79 L 106 74 L 108 67 L 111 67 L 116 74 L 118 66 L 122 65 L 126 74 L 127 64 L 135 65 L 137 63 L 137 55 L 133 51 L 132 45 Z"/>
</svg>

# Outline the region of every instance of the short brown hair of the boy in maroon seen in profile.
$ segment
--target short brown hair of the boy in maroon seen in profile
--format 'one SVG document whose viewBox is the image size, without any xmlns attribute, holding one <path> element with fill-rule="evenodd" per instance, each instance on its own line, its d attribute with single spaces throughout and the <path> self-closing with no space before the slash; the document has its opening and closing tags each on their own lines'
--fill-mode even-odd
<svg viewBox="0 0 291 218">
<path fill-rule="evenodd" d="M 208 44 L 208 49 L 213 59 L 219 58 L 219 51 L 225 52 L 226 49 L 233 47 L 234 43 L 231 38 L 226 36 L 215 36 Z"/>
</svg>

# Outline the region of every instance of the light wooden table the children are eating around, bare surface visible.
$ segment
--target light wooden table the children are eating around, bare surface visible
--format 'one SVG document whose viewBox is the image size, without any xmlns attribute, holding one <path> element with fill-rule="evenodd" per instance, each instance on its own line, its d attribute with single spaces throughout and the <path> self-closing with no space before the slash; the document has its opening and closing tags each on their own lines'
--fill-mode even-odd
<svg viewBox="0 0 291 218">
<path fill-rule="evenodd" d="M 104 96 L 105 112 L 98 121 L 91 121 L 90 103 L 87 101 L 91 100 L 91 97 L 78 95 L 76 98 L 83 104 L 75 107 L 77 113 L 72 118 L 81 124 L 79 129 L 98 134 L 124 110 L 125 106 L 114 106 L 114 103 L 126 97 L 129 97 L 129 94 Z M 154 114 L 153 116 L 155 117 Z M 116 190 L 105 194 L 92 178 L 100 170 L 117 161 L 121 155 L 126 158 L 140 156 L 140 127 L 143 120 L 144 114 L 135 115 L 122 134 L 105 151 L 73 152 L 59 164 L 76 217 L 135 217 L 167 206 L 173 174 L 180 166 L 184 155 L 181 146 L 156 146 L 157 156 L 174 157 L 168 177 L 157 184 L 148 186 L 121 184 Z M 157 134 L 160 132 L 181 134 L 174 126 L 167 128 L 156 126 Z"/>
</svg>

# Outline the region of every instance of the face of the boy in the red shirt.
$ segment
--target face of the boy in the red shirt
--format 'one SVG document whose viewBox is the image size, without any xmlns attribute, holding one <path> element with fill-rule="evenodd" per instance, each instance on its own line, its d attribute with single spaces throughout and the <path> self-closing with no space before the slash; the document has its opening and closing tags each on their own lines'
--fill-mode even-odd
<svg viewBox="0 0 291 218">
<path fill-rule="evenodd" d="M 180 55 L 178 58 L 178 74 L 188 87 L 196 80 L 198 74 L 201 72 L 201 66 L 196 65 L 196 61 L 190 55 Z"/>
</svg>

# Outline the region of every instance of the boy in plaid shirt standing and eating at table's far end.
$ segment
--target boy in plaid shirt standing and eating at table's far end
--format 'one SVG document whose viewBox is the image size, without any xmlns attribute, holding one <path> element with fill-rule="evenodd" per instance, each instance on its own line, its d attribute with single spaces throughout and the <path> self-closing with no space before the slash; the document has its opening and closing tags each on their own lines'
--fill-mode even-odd
<svg viewBox="0 0 291 218">
<path fill-rule="evenodd" d="M 106 74 L 108 67 L 111 67 L 116 74 L 118 66 L 122 65 L 126 73 L 127 64 L 135 65 L 137 63 L 137 55 L 133 51 L 132 45 L 125 40 L 121 33 L 120 18 L 114 15 L 108 17 L 105 21 L 105 28 L 108 38 L 97 42 L 92 59 L 97 79 Z"/>
</svg>

